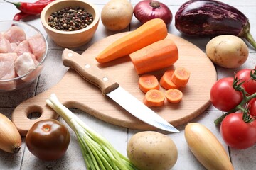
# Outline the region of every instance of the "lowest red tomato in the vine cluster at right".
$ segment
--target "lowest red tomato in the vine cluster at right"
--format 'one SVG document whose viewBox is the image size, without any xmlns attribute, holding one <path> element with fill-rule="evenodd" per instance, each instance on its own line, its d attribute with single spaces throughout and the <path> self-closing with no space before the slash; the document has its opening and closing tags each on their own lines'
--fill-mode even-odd
<svg viewBox="0 0 256 170">
<path fill-rule="evenodd" d="M 220 134 L 225 143 L 235 149 L 246 149 L 256 142 L 256 126 L 245 123 L 242 113 L 227 115 L 220 125 Z"/>
</svg>

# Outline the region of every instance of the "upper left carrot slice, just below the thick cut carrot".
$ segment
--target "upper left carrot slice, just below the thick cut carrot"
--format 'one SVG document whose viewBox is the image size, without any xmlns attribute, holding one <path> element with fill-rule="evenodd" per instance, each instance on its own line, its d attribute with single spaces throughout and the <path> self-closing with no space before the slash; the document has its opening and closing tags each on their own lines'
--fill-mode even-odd
<svg viewBox="0 0 256 170">
<path fill-rule="evenodd" d="M 160 89 L 159 81 L 152 74 L 144 74 L 139 77 L 139 89 L 146 94 L 151 89 Z"/>
</svg>

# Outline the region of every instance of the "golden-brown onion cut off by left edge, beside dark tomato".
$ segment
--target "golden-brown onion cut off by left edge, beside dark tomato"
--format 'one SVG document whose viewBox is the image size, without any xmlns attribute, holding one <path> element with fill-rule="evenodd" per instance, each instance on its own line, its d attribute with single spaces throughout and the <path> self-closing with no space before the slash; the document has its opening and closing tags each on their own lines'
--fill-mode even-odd
<svg viewBox="0 0 256 170">
<path fill-rule="evenodd" d="M 14 123 L 0 113 L 0 149 L 4 152 L 16 153 L 21 149 L 21 135 Z"/>
</svg>

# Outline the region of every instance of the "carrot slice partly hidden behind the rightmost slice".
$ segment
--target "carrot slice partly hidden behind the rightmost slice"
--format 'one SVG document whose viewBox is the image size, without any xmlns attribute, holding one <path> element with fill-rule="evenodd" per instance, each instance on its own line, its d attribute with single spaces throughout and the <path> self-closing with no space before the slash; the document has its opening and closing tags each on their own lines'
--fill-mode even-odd
<svg viewBox="0 0 256 170">
<path fill-rule="evenodd" d="M 176 86 L 176 84 L 171 81 L 172 74 L 174 74 L 174 70 L 168 69 L 166 70 L 166 72 L 164 72 L 164 75 L 160 79 L 160 86 L 166 90 L 178 89 L 178 86 Z"/>
</svg>

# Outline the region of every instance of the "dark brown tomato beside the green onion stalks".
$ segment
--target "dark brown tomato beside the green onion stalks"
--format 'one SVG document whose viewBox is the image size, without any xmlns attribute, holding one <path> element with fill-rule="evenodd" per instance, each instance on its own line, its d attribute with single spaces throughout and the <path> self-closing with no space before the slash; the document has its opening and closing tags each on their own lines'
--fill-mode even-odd
<svg viewBox="0 0 256 170">
<path fill-rule="evenodd" d="M 26 135 L 28 150 L 44 161 L 63 157 L 70 143 L 68 129 L 58 120 L 40 120 L 32 125 Z"/>
</svg>

